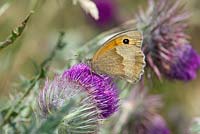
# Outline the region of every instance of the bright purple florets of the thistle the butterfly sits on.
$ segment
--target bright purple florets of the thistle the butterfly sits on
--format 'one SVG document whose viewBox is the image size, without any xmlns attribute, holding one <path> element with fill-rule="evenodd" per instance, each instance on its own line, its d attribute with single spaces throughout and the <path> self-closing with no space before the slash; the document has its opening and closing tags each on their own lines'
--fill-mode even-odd
<svg viewBox="0 0 200 134">
<path fill-rule="evenodd" d="M 78 64 L 65 71 L 63 78 L 77 83 L 92 95 L 100 110 L 100 118 L 107 118 L 118 109 L 118 89 L 110 77 L 92 72 L 85 64 Z"/>
</svg>

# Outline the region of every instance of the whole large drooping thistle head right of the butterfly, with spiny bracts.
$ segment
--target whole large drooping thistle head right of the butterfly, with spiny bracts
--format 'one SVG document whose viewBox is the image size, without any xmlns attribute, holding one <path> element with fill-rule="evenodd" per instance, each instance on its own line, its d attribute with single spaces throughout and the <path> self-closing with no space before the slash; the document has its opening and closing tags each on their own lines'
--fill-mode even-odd
<svg viewBox="0 0 200 134">
<path fill-rule="evenodd" d="M 180 0 L 149 0 L 147 12 L 137 16 L 144 33 L 143 51 L 149 67 L 159 79 L 192 80 L 200 69 L 198 54 L 189 46 L 185 33 L 189 13 Z M 184 53 L 184 54 L 183 54 Z"/>
</svg>

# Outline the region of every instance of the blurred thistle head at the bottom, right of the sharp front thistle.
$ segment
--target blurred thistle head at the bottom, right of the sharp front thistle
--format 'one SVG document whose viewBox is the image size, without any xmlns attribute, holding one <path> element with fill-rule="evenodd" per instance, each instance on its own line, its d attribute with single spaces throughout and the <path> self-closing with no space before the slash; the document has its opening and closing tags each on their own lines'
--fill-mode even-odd
<svg viewBox="0 0 200 134">
<path fill-rule="evenodd" d="M 132 119 L 128 120 L 126 124 L 126 130 L 136 134 L 169 134 L 170 131 L 165 120 L 157 113 L 162 106 L 161 97 L 147 95 L 145 90 L 140 92 L 140 89 L 133 92 L 134 96 L 132 96 L 131 102 L 134 110 Z"/>
</svg>

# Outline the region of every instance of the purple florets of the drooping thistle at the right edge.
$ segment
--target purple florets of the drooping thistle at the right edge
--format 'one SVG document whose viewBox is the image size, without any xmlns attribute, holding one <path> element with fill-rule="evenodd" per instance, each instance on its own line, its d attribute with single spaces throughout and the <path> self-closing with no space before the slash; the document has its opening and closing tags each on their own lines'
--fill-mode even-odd
<svg viewBox="0 0 200 134">
<path fill-rule="evenodd" d="M 179 80 L 192 80 L 196 78 L 197 70 L 200 68 L 200 56 L 188 44 L 175 48 L 173 60 L 169 61 L 169 67 L 166 68 L 166 75 L 170 78 Z"/>
</svg>

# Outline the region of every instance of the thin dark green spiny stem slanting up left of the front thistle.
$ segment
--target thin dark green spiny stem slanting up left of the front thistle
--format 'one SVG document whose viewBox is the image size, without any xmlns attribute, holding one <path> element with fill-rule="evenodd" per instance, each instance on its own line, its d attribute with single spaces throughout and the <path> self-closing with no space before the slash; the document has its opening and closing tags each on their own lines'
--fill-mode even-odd
<svg viewBox="0 0 200 134">
<path fill-rule="evenodd" d="M 47 57 L 39 66 L 40 71 L 38 72 L 38 74 L 28 81 L 28 85 L 25 89 L 25 92 L 19 98 L 16 98 L 14 104 L 11 103 L 9 106 L 0 110 L 0 115 L 2 116 L 2 120 L 0 120 L 0 128 L 3 128 L 4 126 L 6 126 L 6 124 L 10 125 L 12 124 L 12 122 L 15 122 L 14 119 L 16 119 L 20 115 L 20 113 L 25 108 L 27 108 L 27 106 L 31 106 L 30 104 L 27 105 L 26 103 L 24 103 L 24 101 L 26 102 L 28 101 L 28 99 L 34 100 L 33 96 L 31 96 L 30 93 L 32 89 L 38 84 L 39 80 L 45 78 L 47 69 L 49 67 L 49 62 L 51 62 L 52 59 L 55 57 L 57 50 L 62 50 L 63 47 L 66 45 L 66 43 L 63 42 L 63 37 L 64 33 L 61 32 L 55 48 L 53 49 L 49 57 Z"/>
</svg>

